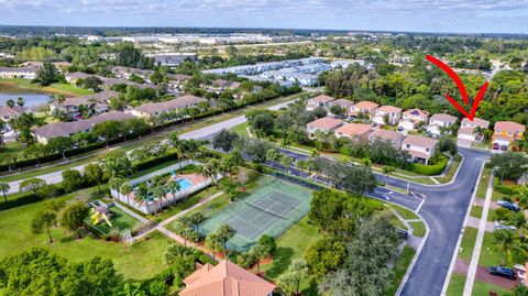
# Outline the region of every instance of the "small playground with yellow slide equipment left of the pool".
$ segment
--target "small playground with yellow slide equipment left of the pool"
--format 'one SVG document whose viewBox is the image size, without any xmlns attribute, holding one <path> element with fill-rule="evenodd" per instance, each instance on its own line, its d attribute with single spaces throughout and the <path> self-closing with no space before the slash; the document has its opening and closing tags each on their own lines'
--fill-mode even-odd
<svg viewBox="0 0 528 296">
<path fill-rule="evenodd" d="M 100 237 L 109 237 L 112 233 L 123 235 L 127 230 L 132 230 L 142 224 L 142 221 L 138 218 L 124 212 L 111 202 L 107 205 L 96 200 L 90 202 L 89 207 L 90 211 L 85 219 L 85 224 L 88 230 Z"/>
</svg>

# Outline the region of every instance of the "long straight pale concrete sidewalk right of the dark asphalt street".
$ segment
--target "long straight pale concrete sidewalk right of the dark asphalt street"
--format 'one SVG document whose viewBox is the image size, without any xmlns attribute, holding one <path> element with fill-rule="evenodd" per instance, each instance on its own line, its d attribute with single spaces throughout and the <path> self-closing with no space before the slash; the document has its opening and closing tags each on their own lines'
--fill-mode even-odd
<svg viewBox="0 0 528 296">
<path fill-rule="evenodd" d="M 465 279 L 463 296 L 471 296 L 473 292 L 473 283 L 475 282 L 475 275 L 479 265 L 479 257 L 481 256 L 482 241 L 484 240 L 484 233 L 486 232 L 487 212 L 490 210 L 490 204 L 492 201 L 493 193 L 493 173 L 486 189 L 486 199 L 484 200 L 484 209 L 482 212 L 481 221 L 479 223 L 479 232 L 476 234 L 476 242 L 473 249 L 473 255 L 471 257 L 470 267 L 468 270 L 468 277 Z"/>
</svg>

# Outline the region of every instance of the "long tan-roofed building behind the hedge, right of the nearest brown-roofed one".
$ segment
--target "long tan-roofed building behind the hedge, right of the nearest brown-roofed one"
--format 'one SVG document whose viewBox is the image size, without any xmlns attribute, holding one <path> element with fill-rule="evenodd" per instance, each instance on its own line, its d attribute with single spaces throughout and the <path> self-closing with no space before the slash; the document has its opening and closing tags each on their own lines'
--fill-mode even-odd
<svg viewBox="0 0 528 296">
<path fill-rule="evenodd" d="M 157 117 L 162 113 L 179 111 L 186 108 L 197 108 L 200 102 L 208 102 L 207 99 L 186 95 L 162 102 L 147 102 L 131 109 L 131 113 L 136 117 L 151 118 Z"/>
</svg>

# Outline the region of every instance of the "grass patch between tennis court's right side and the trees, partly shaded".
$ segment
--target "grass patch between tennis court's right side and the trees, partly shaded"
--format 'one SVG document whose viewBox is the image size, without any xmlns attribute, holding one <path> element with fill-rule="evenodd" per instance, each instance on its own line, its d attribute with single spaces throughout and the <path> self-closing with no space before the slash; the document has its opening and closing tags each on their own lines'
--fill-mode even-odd
<svg viewBox="0 0 528 296">
<path fill-rule="evenodd" d="M 310 224 L 308 217 L 302 218 L 277 239 L 277 254 L 273 263 L 261 265 L 261 270 L 265 271 L 267 278 L 276 282 L 294 259 L 304 259 L 306 250 L 322 238 L 319 228 Z M 300 288 L 302 295 L 319 295 L 310 279 L 302 281 Z"/>
</svg>

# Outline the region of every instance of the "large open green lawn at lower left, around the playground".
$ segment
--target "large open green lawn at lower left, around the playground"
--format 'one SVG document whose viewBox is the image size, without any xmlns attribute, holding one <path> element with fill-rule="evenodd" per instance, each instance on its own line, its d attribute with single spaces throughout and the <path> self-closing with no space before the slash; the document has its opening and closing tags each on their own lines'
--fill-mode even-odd
<svg viewBox="0 0 528 296">
<path fill-rule="evenodd" d="M 77 191 L 75 195 L 61 197 L 65 201 L 88 200 L 95 188 Z M 84 261 L 94 256 L 109 257 L 113 261 L 118 275 L 122 281 L 142 281 L 161 271 L 162 254 L 170 240 L 154 232 L 142 241 L 130 246 L 107 242 L 84 234 L 77 240 L 75 234 L 58 227 L 52 230 L 55 240 L 50 244 L 46 234 L 31 233 L 30 223 L 42 202 L 31 204 L 10 210 L 0 211 L 0 259 L 13 255 L 32 246 L 41 246 L 61 254 L 68 260 Z"/>
</svg>

